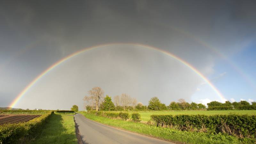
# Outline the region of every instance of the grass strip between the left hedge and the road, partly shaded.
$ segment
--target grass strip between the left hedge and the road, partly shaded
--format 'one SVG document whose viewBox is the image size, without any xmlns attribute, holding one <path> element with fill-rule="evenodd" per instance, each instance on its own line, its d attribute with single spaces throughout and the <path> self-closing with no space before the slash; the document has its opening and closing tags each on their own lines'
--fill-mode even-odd
<svg viewBox="0 0 256 144">
<path fill-rule="evenodd" d="M 68 143 L 77 144 L 74 113 L 54 113 L 42 128 L 42 132 L 31 141 L 33 144 Z"/>
</svg>

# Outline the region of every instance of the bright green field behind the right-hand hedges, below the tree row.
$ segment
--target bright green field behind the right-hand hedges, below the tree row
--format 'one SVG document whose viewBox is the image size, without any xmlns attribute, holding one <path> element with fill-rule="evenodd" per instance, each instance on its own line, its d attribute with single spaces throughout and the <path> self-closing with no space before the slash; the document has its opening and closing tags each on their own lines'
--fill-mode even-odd
<svg viewBox="0 0 256 144">
<path fill-rule="evenodd" d="M 131 112 L 132 113 L 132 112 Z M 141 115 L 141 120 L 147 122 L 151 115 L 225 115 L 225 114 L 248 114 L 256 115 L 256 110 L 187 110 L 187 111 L 138 111 Z"/>
</svg>

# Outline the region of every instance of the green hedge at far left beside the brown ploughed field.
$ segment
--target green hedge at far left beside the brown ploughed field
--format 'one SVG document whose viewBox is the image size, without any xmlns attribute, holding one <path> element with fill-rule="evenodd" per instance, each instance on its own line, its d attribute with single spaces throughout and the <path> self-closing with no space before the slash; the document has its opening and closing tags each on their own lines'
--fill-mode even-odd
<svg viewBox="0 0 256 144">
<path fill-rule="evenodd" d="M 0 143 L 24 143 L 25 138 L 33 137 L 42 128 L 53 111 L 28 122 L 0 125 Z"/>
</svg>

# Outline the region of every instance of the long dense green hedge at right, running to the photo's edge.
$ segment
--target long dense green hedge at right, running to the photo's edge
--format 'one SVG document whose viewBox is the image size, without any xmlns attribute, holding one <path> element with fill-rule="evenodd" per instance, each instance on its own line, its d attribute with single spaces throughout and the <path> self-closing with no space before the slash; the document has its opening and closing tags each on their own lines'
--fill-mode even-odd
<svg viewBox="0 0 256 144">
<path fill-rule="evenodd" d="M 240 138 L 256 138 L 256 115 L 152 115 L 157 126 L 185 131 L 228 133 Z"/>
</svg>

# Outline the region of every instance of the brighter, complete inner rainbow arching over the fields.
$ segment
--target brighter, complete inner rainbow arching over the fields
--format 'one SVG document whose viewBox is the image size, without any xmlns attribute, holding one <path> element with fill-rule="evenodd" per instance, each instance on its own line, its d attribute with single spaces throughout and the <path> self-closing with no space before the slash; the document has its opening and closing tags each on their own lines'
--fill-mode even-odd
<svg viewBox="0 0 256 144">
<path fill-rule="evenodd" d="M 98 49 L 98 48 L 103 48 L 103 47 L 109 47 L 109 46 L 118 46 L 118 45 L 127 45 L 127 46 L 137 46 L 140 48 L 145 48 L 145 49 L 150 49 L 153 51 L 157 51 L 157 52 L 161 52 L 165 55 L 168 55 L 170 57 L 172 57 L 173 59 L 181 62 L 182 64 L 186 65 L 188 68 L 190 68 L 192 71 L 194 71 L 198 76 L 200 76 L 207 84 L 209 84 L 209 86 L 214 90 L 214 92 L 220 97 L 221 101 L 224 102 L 226 101 L 225 97 L 217 90 L 217 88 L 202 74 L 200 73 L 196 68 L 194 68 L 191 64 L 189 64 L 188 62 L 186 62 L 185 60 L 182 60 L 180 57 L 161 50 L 159 48 L 153 47 L 153 46 L 149 46 L 149 45 L 145 45 L 145 44 L 137 44 L 137 43 L 111 43 L 111 44 L 101 44 L 101 45 L 96 45 L 96 46 L 92 46 L 92 47 L 87 47 L 84 48 L 80 51 L 74 52 L 68 56 L 66 56 L 65 58 L 55 62 L 52 66 L 50 66 L 49 68 L 47 68 L 46 70 L 44 70 L 40 75 L 38 75 L 32 82 L 30 82 L 19 94 L 18 96 L 12 101 L 12 103 L 9 105 L 10 108 L 13 108 L 18 101 L 25 95 L 26 92 L 28 92 L 28 90 L 40 79 L 42 78 L 44 75 L 46 75 L 48 72 L 50 72 L 53 68 L 57 67 L 58 65 L 60 65 L 61 63 L 65 62 L 66 60 L 75 57 L 81 53 L 84 52 L 88 52 L 90 50 L 93 49 Z"/>
</svg>

